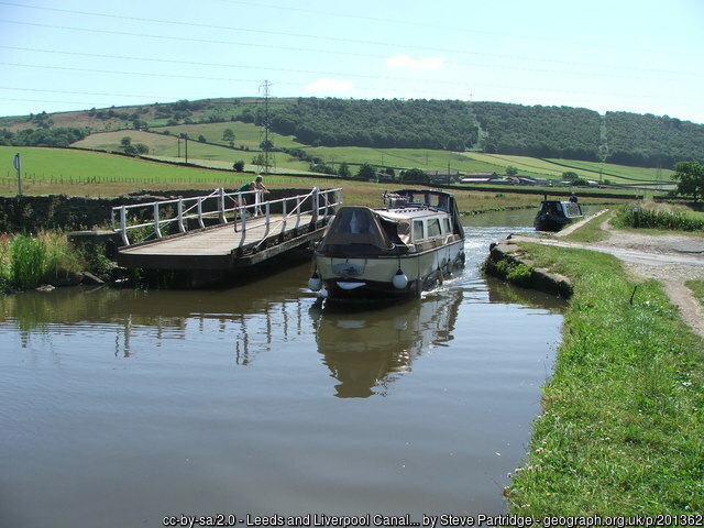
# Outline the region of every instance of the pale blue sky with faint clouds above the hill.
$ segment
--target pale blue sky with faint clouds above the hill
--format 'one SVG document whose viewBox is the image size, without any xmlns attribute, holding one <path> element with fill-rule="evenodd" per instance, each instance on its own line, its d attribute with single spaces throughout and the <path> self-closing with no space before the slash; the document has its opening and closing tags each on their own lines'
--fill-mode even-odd
<svg viewBox="0 0 704 528">
<path fill-rule="evenodd" d="M 0 116 L 266 91 L 704 123 L 704 0 L 0 0 Z"/>
</svg>

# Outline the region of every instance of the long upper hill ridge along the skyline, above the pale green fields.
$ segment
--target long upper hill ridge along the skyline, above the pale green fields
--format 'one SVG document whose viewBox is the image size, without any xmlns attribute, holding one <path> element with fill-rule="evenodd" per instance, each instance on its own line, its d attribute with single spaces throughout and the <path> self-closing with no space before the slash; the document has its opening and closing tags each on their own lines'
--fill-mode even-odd
<svg viewBox="0 0 704 528">
<path fill-rule="evenodd" d="M 569 107 L 397 99 L 270 99 L 266 107 L 260 99 L 207 99 L 51 116 L 42 112 L 0 118 L 0 145 L 66 146 L 96 132 L 164 132 L 178 127 L 178 133 L 188 133 L 191 140 L 197 134 L 208 143 L 232 146 L 224 139 L 226 129 L 233 130 L 238 143 L 241 132 L 234 129 L 266 123 L 278 134 L 273 146 L 305 162 L 310 160 L 302 151 L 293 151 L 422 148 L 657 168 L 671 168 L 680 161 L 704 162 L 704 125 L 667 116 L 601 116 Z M 215 124 L 218 127 L 208 127 Z M 262 136 L 255 135 L 238 146 L 258 150 Z"/>
</svg>

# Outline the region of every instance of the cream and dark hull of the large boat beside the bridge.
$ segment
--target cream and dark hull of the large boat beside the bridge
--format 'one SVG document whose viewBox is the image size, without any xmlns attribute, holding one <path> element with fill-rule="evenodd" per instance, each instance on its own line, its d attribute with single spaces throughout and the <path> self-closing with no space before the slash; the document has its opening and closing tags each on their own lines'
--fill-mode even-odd
<svg viewBox="0 0 704 528">
<path fill-rule="evenodd" d="M 417 297 L 464 266 L 464 241 L 458 240 L 418 253 L 374 256 L 316 254 L 324 293 L 333 300 Z M 406 280 L 395 280 L 398 272 Z M 404 287 L 398 285 L 406 283 Z"/>
</svg>

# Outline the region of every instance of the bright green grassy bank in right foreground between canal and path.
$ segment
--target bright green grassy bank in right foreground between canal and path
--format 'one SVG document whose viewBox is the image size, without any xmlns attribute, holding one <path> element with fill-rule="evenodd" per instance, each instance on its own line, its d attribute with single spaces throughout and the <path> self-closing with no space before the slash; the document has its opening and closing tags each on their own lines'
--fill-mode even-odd
<svg viewBox="0 0 704 528">
<path fill-rule="evenodd" d="M 704 510 L 704 354 L 662 286 L 606 254 L 520 243 L 571 277 L 563 342 L 544 387 L 513 514 Z"/>
</svg>

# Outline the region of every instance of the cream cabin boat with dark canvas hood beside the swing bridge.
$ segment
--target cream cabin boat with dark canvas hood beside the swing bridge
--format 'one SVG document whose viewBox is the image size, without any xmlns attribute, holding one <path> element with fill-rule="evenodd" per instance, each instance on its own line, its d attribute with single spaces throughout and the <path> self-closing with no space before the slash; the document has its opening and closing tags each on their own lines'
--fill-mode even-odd
<svg viewBox="0 0 704 528">
<path fill-rule="evenodd" d="M 383 208 L 337 211 L 316 248 L 310 289 L 334 300 L 413 297 L 464 265 L 452 194 L 404 189 L 384 198 Z"/>
</svg>

